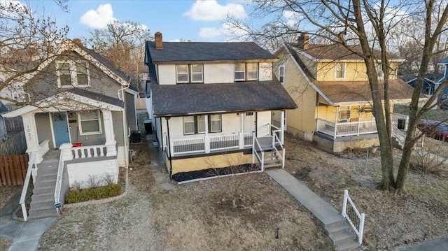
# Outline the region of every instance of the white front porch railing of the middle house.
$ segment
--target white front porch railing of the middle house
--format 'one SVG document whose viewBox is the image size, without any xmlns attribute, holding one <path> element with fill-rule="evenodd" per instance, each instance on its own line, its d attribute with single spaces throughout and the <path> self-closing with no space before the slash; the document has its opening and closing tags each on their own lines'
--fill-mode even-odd
<svg viewBox="0 0 448 251">
<path fill-rule="evenodd" d="M 170 152 L 172 152 L 172 156 L 176 156 L 244 149 L 251 147 L 252 139 L 251 133 L 241 132 L 228 135 L 204 135 L 201 138 L 172 139 Z"/>
</svg>

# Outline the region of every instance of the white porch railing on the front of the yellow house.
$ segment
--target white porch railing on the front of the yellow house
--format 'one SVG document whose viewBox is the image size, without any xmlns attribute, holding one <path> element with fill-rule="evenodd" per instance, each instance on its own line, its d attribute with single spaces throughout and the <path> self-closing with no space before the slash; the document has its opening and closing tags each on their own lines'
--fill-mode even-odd
<svg viewBox="0 0 448 251">
<path fill-rule="evenodd" d="M 377 123 L 374 120 L 335 123 L 317 119 L 317 131 L 337 138 L 343 136 L 359 136 L 362 134 L 376 134 L 378 129 Z"/>
</svg>

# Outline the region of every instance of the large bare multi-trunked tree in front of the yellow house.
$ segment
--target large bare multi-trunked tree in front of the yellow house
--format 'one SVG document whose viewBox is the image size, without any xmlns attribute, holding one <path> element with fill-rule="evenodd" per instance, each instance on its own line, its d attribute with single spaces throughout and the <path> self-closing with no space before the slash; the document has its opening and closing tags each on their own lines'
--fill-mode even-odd
<svg viewBox="0 0 448 251">
<path fill-rule="evenodd" d="M 299 32 L 306 32 L 315 38 L 322 38 L 329 43 L 344 45 L 353 54 L 358 55 L 365 62 L 367 78 L 372 94 L 374 117 L 377 124 L 380 149 L 381 149 L 381 186 L 383 189 L 395 188 L 396 193 L 405 189 L 405 181 L 409 170 L 409 157 L 412 148 L 420 136 L 416 136 L 416 125 L 426 111 L 433 108 L 434 101 L 447 83 L 443 83 L 428 101 L 419 108 L 419 98 L 423 87 L 423 78 L 426 75 L 428 64 L 434 55 L 440 53 L 435 45 L 441 34 L 446 31 L 448 7 L 446 1 L 435 0 L 399 0 L 399 1 L 370 1 L 370 0 L 279 0 L 264 1 L 253 0 L 255 15 L 272 18 L 270 24 L 284 23 L 283 13 L 290 12 L 294 15 L 293 21 L 300 24 L 297 27 L 280 29 L 279 34 L 272 36 L 271 32 L 262 27 L 250 26 L 244 20 L 230 20 L 232 29 L 242 28 L 248 32 L 248 36 L 255 41 L 266 41 L 270 37 L 278 40 L 282 34 L 290 36 Z M 437 19 L 434 18 L 435 8 L 438 8 Z M 393 174 L 393 146 L 391 139 L 391 103 L 389 99 L 389 76 L 395 71 L 390 62 L 391 59 L 391 34 L 399 29 L 399 24 L 413 18 L 424 27 L 424 36 L 421 40 L 423 50 L 419 58 L 419 71 L 412 101 L 409 105 L 409 129 L 405 140 L 405 146 L 400 161 L 398 177 Z M 236 22 L 235 22 L 236 21 Z M 262 38 L 260 38 L 262 37 Z M 353 46 L 357 45 L 357 46 Z M 373 48 L 381 52 L 375 55 Z M 384 80 L 378 79 L 377 65 L 381 66 Z M 447 81 L 445 81 L 447 82 Z M 382 91 L 382 92 L 381 92 Z M 384 103 L 383 103 L 384 101 Z"/>
</svg>

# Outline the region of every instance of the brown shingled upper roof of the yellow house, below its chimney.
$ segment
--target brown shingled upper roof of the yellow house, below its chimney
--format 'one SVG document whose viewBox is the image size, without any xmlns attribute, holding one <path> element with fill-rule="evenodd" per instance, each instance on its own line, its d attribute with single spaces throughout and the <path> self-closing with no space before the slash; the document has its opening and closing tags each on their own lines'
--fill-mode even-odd
<svg viewBox="0 0 448 251">
<path fill-rule="evenodd" d="M 314 61 L 339 61 L 339 60 L 348 60 L 348 61 L 363 61 L 363 58 L 351 52 L 348 48 L 341 44 L 308 44 L 307 49 L 303 49 L 297 46 L 297 44 L 289 43 L 291 47 L 295 48 L 306 55 L 310 59 Z M 363 50 L 360 48 L 360 45 L 351 45 L 353 50 L 362 52 Z M 381 51 L 372 49 L 373 55 L 378 59 L 381 59 Z M 388 59 L 391 61 L 399 61 L 402 62 L 404 60 L 400 59 L 397 55 L 389 53 Z"/>
</svg>

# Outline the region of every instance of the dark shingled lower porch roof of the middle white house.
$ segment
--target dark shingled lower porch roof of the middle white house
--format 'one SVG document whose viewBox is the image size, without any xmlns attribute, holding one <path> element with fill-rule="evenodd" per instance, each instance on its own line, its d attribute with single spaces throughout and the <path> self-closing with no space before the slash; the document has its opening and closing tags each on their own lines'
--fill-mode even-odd
<svg viewBox="0 0 448 251">
<path fill-rule="evenodd" d="M 155 117 L 297 108 L 276 80 L 222 84 L 152 85 Z"/>
</svg>

